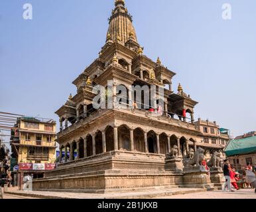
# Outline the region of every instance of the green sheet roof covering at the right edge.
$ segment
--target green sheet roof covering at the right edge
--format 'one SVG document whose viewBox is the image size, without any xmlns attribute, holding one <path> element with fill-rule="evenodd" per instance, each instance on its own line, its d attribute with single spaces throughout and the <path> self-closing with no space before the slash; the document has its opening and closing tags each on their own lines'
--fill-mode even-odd
<svg viewBox="0 0 256 212">
<path fill-rule="evenodd" d="M 255 152 L 256 136 L 230 140 L 229 144 L 227 144 L 227 147 L 225 148 L 225 154 L 227 155 L 227 157 L 241 154 L 251 154 Z"/>
</svg>

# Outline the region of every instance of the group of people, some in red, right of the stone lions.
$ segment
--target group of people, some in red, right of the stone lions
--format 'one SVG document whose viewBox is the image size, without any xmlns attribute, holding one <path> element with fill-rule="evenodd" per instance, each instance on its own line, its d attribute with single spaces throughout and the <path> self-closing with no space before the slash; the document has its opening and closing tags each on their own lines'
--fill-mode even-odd
<svg viewBox="0 0 256 212">
<path fill-rule="evenodd" d="M 223 171 L 225 177 L 225 184 L 223 187 L 223 191 L 234 192 L 235 190 L 241 189 L 241 187 L 253 187 L 253 185 L 250 184 L 247 178 L 246 170 L 249 170 L 252 173 L 255 172 L 255 169 L 253 170 L 251 164 L 248 163 L 245 169 L 243 170 L 243 175 L 242 178 L 240 179 L 240 174 L 238 172 L 235 172 L 235 168 L 231 167 L 229 160 L 224 160 Z M 237 184 L 240 184 L 241 186 L 239 187 Z M 256 193 L 256 187 L 254 188 Z"/>
</svg>

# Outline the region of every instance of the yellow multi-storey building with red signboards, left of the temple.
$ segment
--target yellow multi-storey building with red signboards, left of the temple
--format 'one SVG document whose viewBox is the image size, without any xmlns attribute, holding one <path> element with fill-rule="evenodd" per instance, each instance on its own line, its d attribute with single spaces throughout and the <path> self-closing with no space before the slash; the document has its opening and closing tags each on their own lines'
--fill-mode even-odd
<svg viewBox="0 0 256 212">
<path fill-rule="evenodd" d="M 18 185 L 24 174 L 43 178 L 45 170 L 52 170 L 56 158 L 56 122 L 52 119 L 21 117 L 11 131 L 12 157 L 16 158 Z"/>
</svg>

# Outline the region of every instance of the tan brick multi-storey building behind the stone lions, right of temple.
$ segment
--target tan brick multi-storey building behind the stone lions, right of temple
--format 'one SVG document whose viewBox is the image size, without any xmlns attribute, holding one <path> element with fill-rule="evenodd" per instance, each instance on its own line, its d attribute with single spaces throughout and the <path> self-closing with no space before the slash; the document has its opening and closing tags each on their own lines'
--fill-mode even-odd
<svg viewBox="0 0 256 212">
<path fill-rule="evenodd" d="M 222 158 L 225 158 L 224 148 L 230 140 L 229 131 L 220 128 L 216 121 L 198 119 L 194 124 L 202 132 L 202 140 L 198 142 L 198 146 L 206 151 L 206 159 L 210 159 L 210 154 L 216 151 L 222 154 Z"/>
</svg>

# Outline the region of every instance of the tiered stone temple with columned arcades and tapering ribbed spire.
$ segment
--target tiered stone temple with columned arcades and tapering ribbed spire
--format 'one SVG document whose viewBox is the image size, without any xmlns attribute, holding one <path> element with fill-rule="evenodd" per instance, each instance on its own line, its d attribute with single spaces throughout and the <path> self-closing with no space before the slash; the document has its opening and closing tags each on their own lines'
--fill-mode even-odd
<svg viewBox="0 0 256 212">
<path fill-rule="evenodd" d="M 181 85 L 178 93 L 172 90 L 175 75 L 159 58 L 154 62 L 143 54 L 125 1 L 116 0 L 99 57 L 73 81 L 76 95 L 70 95 L 56 111 L 60 117 L 57 142 L 65 154 L 58 158 L 55 170 L 33 181 L 33 189 L 104 193 L 211 187 L 202 160 L 199 168 L 197 162 L 190 168 L 184 168 L 182 162 L 196 155 L 193 152 L 197 152 L 202 133 L 194 124 L 198 102 L 186 95 Z M 110 87 L 109 80 L 113 81 Z M 119 85 L 125 86 L 126 103 L 134 107 L 95 109 L 95 85 L 107 87 L 114 102 L 120 98 Z M 155 85 L 156 92 L 141 91 L 143 97 L 153 96 L 153 101 L 145 103 L 142 98 L 135 103 L 135 85 Z M 163 107 L 159 113 L 160 100 Z"/>
</svg>

